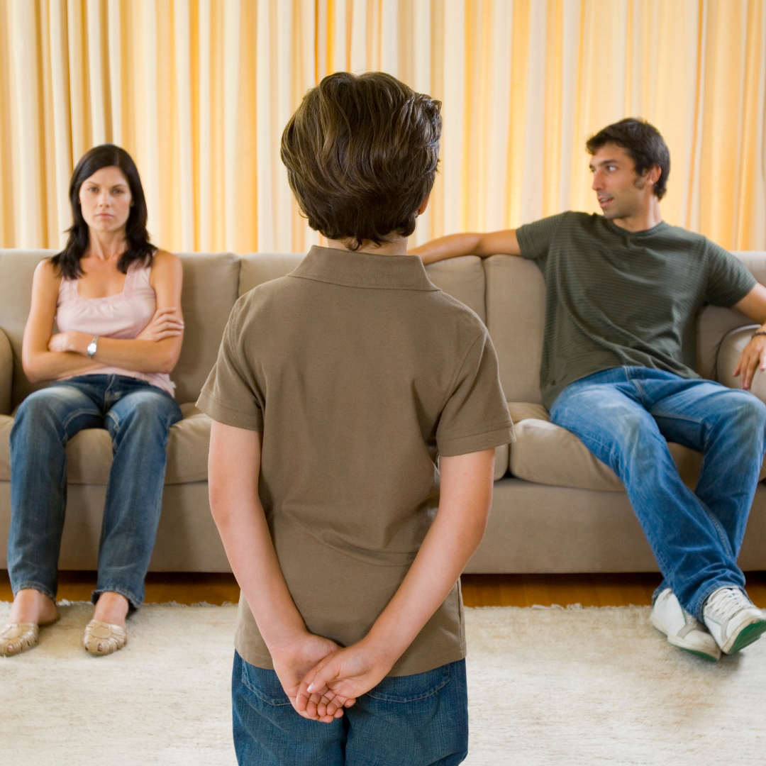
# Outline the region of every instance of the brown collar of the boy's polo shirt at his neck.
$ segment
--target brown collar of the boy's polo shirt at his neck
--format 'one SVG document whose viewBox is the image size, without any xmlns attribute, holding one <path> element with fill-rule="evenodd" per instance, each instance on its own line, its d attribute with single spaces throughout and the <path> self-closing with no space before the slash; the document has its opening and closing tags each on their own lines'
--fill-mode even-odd
<svg viewBox="0 0 766 766">
<path fill-rule="evenodd" d="M 375 290 L 439 290 L 416 255 L 378 255 L 314 245 L 290 277 Z"/>
</svg>

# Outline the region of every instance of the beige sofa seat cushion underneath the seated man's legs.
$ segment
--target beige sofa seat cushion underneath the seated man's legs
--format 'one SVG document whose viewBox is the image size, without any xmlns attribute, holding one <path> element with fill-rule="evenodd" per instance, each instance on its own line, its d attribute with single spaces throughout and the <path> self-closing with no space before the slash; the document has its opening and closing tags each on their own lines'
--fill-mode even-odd
<svg viewBox="0 0 766 766">
<path fill-rule="evenodd" d="M 624 491 L 614 471 L 594 457 L 575 434 L 551 423 L 542 404 L 511 402 L 508 407 L 516 431 L 509 459 L 513 476 L 551 486 Z M 702 454 L 673 442 L 668 447 L 683 482 L 693 488 Z M 763 473 L 761 470 L 761 477 Z"/>
</svg>

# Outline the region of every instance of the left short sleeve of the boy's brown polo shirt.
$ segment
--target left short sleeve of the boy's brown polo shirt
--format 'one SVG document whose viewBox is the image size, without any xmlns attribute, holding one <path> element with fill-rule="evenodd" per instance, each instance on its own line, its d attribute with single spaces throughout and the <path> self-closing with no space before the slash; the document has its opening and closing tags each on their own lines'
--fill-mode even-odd
<svg viewBox="0 0 766 766">
<path fill-rule="evenodd" d="M 197 406 L 218 423 L 262 432 L 264 397 L 245 353 L 245 344 L 253 333 L 244 307 L 240 299 L 231 309 L 218 360 L 202 387 Z"/>
</svg>

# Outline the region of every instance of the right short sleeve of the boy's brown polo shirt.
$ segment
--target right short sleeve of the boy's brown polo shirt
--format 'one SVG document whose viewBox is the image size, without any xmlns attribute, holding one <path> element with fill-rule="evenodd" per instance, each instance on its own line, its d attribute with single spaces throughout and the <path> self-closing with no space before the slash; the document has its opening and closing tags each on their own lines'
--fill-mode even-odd
<svg viewBox="0 0 766 766">
<path fill-rule="evenodd" d="M 436 433 L 444 457 L 481 452 L 516 441 L 502 393 L 497 356 L 489 333 L 473 342 L 460 365 Z"/>
</svg>

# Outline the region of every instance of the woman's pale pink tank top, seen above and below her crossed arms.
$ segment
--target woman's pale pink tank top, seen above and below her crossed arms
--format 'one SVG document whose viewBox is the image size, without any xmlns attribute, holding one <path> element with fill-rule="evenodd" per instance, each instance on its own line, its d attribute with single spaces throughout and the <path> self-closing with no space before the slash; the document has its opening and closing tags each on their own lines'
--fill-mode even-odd
<svg viewBox="0 0 766 766">
<path fill-rule="evenodd" d="M 125 276 L 123 292 L 106 298 L 80 298 L 77 280 L 61 278 L 56 304 L 59 332 L 85 332 L 103 338 L 133 339 L 154 316 L 157 298 L 149 284 L 148 267 L 131 266 Z M 140 378 L 174 396 L 175 385 L 164 372 L 133 372 L 120 367 L 98 367 L 78 375 L 127 375 Z M 74 375 L 67 375 L 73 378 Z M 66 380 L 67 378 L 61 378 Z"/>
</svg>

